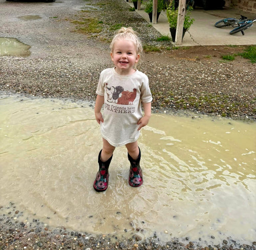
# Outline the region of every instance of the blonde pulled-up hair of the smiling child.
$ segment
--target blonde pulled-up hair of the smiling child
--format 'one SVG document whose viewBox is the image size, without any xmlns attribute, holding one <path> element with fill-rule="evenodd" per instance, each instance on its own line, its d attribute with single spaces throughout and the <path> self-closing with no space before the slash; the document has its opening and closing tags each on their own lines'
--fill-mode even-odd
<svg viewBox="0 0 256 250">
<path fill-rule="evenodd" d="M 115 42 L 121 39 L 132 41 L 134 43 L 137 55 L 142 54 L 143 47 L 142 47 L 141 41 L 138 37 L 138 33 L 134 31 L 132 27 L 129 27 L 129 28 L 122 27 L 121 29 L 116 31 L 114 38 L 110 44 L 111 53 L 113 53 Z"/>
</svg>

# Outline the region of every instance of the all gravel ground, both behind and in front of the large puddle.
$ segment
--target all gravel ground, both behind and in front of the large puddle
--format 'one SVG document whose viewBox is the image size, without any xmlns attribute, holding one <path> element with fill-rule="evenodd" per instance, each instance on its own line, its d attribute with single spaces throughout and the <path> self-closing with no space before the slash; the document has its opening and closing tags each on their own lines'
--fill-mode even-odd
<svg viewBox="0 0 256 250">
<path fill-rule="evenodd" d="M 38 7 L 42 19 L 18 19 L 28 13 L 38 14 Z M 13 11 L 15 8 L 19 10 L 18 14 Z M 156 41 L 160 34 L 129 8 L 123 0 L 82 3 L 67 0 L 53 4 L 7 4 L 0 0 L 3 23 L 0 37 L 15 37 L 31 45 L 29 57 L 0 57 L 0 91 L 94 101 L 100 71 L 113 66 L 109 42 L 114 30 L 118 26 L 131 26 L 138 31 L 147 48 L 160 49 L 157 52 L 145 49 L 138 66 L 150 79 L 154 112 L 186 110 L 255 121 L 255 65 L 239 56 L 231 62 L 221 60 L 222 55 L 240 53 L 245 46 L 174 49 L 168 41 Z M 81 30 L 96 18 L 96 28 L 100 26 L 101 32 L 91 33 L 89 28 Z M 25 223 L 17 219 L 22 211 L 18 211 L 15 204 L 2 206 L 0 249 L 206 250 L 255 249 L 256 245 L 256 242 L 246 245 L 237 239 L 223 239 L 220 244 L 209 246 L 201 239 L 190 242 L 186 238 L 170 238 L 169 242 L 163 243 L 157 235 L 146 240 L 136 233 L 122 239 L 114 235 L 90 235 L 65 228 L 51 229 L 36 218 Z"/>
</svg>

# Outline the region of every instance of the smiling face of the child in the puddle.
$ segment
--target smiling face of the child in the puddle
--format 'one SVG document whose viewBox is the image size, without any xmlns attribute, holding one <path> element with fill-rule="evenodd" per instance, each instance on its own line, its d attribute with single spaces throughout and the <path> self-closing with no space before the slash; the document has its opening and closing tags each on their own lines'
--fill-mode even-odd
<svg viewBox="0 0 256 250">
<path fill-rule="evenodd" d="M 114 44 L 111 59 L 116 66 L 119 74 L 132 74 L 134 65 L 139 61 L 139 55 L 136 53 L 135 45 L 130 40 L 117 40 Z"/>
</svg>

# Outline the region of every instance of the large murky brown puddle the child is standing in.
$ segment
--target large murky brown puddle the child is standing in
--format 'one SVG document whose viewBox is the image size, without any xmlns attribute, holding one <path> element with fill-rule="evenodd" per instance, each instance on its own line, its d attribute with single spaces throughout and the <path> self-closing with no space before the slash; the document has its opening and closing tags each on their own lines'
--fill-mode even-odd
<svg viewBox="0 0 256 250">
<path fill-rule="evenodd" d="M 96 193 L 102 141 L 89 103 L 2 95 L 0 117 L 2 206 L 81 232 L 255 240 L 255 123 L 153 114 L 139 139 L 144 184 L 129 186 L 118 147 Z"/>
</svg>

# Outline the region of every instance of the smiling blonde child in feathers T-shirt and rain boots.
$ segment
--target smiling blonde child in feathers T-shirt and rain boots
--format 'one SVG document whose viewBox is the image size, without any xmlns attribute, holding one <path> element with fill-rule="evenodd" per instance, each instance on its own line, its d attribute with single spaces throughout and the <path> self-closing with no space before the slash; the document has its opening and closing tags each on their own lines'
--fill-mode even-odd
<svg viewBox="0 0 256 250">
<path fill-rule="evenodd" d="M 99 171 L 93 184 L 97 192 L 108 188 L 113 152 L 115 147 L 122 145 L 126 146 L 131 163 L 129 184 L 132 187 L 142 185 L 141 152 L 137 140 L 140 129 L 146 126 L 151 116 L 152 94 L 148 78 L 134 68 L 143 51 L 137 33 L 132 28 L 121 28 L 110 48 L 115 67 L 101 72 L 96 91 L 95 118 L 103 137 L 103 148 L 98 156 Z"/>
</svg>

